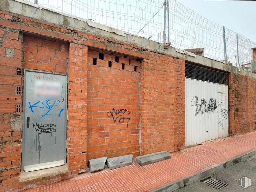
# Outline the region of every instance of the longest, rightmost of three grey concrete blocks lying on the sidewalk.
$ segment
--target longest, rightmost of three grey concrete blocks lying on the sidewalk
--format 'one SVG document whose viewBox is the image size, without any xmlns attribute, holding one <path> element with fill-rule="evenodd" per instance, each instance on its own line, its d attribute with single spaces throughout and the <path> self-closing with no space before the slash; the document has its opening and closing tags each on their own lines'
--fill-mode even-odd
<svg viewBox="0 0 256 192">
<path fill-rule="evenodd" d="M 169 158 L 171 158 L 171 154 L 169 154 L 167 151 L 161 151 L 157 153 L 151 153 L 148 155 L 139 156 L 136 158 L 136 162 L 139 165 L 143 166 L 143 165 L 148 165 L 150 163 L 166 160 Z"/>
</svg>

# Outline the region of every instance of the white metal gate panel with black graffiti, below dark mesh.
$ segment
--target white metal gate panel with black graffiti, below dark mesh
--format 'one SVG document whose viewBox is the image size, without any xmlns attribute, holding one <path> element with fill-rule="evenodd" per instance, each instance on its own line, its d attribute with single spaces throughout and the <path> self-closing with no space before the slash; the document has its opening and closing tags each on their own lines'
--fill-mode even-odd
<svg viewBox="0 0 256 192">
<path fill-rule="evenodd" d="M 228 136 L 228 85 L 186 78 L 186 146 Z"/>
</svg>

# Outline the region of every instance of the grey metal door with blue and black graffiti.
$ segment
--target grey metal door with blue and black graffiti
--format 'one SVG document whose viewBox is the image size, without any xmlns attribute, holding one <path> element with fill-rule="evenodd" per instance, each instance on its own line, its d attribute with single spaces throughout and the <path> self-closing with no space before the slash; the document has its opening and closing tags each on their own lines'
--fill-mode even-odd
<svg viewBox="0 0 256 192">
<path fill-rule="evenodd" d="M 66 163 L 67 76 L 24 73 L 22 170 Z"/>
</svg>

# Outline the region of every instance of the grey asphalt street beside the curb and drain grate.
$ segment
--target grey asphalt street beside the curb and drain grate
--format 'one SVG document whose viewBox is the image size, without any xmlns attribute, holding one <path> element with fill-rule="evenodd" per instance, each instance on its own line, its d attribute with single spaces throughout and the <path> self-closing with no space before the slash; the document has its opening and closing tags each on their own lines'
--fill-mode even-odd
<svg viewBox="0 0 256 192">
<path fill-rule="evenodd" d="M 246 188 L 239 186 L 239 179 L 242 177 L 250 178 L 251 186 Z M 215 189 L 207 186 L 207 184 L 201 181 L 198 181 L 180 188 L 175 192 L 256 192 L 256 156 L 232 165 L 219 173 L 214 174 L 212 178 L 226 182 L 228 185 L 222 189 Z"/>
</svg>

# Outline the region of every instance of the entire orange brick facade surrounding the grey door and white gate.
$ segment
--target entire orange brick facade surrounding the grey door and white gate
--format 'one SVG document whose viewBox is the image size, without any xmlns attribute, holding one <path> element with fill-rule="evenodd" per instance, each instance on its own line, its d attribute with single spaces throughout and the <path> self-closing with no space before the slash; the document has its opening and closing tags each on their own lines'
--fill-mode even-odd
<svg viewBox="0 0 256 192">
<path fill-rule="evenodd" d="M 20 182 L 24 69 L 68 75 L 68 173 Z M 254 131 L 256 81 L 229 83 L 230 135 Z M 0 191 L 74 177 L 93 158 L 183 149 L 185 60 L 0 11 L 0 136 Z"/>
</svg>

